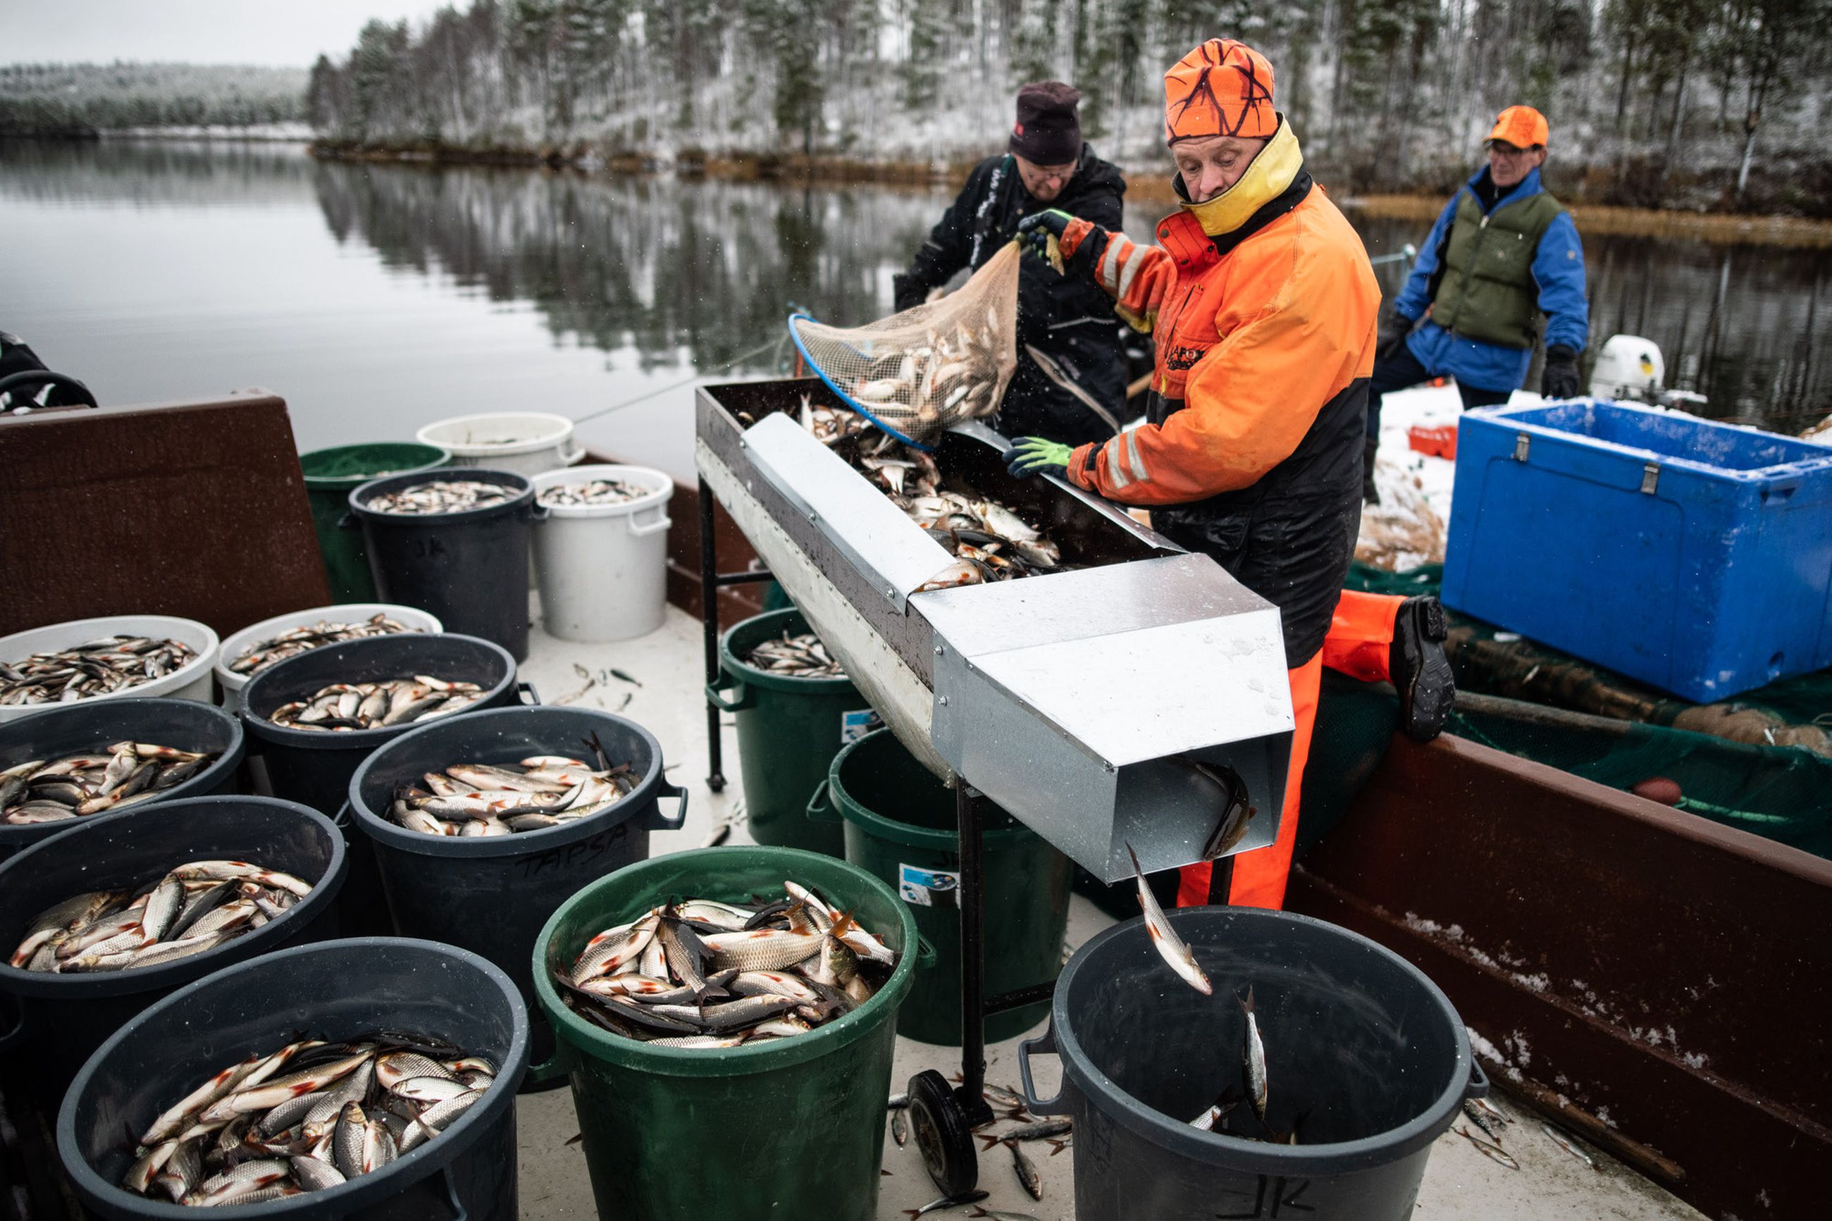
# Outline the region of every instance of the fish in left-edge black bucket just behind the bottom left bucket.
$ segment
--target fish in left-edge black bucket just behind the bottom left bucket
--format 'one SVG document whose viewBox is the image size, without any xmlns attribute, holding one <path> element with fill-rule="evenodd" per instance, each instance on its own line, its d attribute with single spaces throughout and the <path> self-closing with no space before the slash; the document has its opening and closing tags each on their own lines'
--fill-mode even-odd
<svg viewBox="0 0 1832 1221">
<path fill-rule="evenodd" d="M 191 860 L 139 890 L 97 890 L 33 917 L 13 967 L 75 974 L 158 967 L 255 932 L 311 882 L 247 860 Z"/>
</svg>

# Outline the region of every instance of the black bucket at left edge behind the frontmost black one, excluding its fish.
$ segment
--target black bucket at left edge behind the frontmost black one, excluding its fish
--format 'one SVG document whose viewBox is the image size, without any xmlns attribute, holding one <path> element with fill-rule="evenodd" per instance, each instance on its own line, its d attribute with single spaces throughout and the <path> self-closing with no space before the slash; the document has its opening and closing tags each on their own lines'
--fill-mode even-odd
<svg viewBox="0 0 1832 1221">
<path fill-rule="evenodd" d="M 337 935 L 344 844 L 330 818 L 293 802 L 200 796 L 110 815 L 0 864 L 0 941 L 11 954 L 31 919 L 55 902 L 141 886 L 187 860 L 220 859 L 284 870 L 311 882 L 311 893 L 251 934 L 159 967 L 53 976 L 0 957 L 0 992 L 16 998 L 22 1014 L 15 1031 L 0 1034 L 0 1051 L 29 1065 L 48 1106 L 103 1040 L 174 989 L 286 945 Z"/>
</svg>

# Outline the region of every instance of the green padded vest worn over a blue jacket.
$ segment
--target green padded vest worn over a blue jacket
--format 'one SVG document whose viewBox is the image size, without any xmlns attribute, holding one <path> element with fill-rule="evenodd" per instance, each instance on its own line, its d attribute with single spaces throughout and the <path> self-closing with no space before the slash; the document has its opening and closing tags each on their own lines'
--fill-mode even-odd
<svg viewBox="0 0 1832 1221">
<path fill-rule="evenodd" d="M 1431 320 L 1464 339 L 1532 348 L 1539 340 L 1533 254 L 1546 225 L 1563 211 L 1563 203 L 1541 190 L 1484 216 L 1471 192 L 1458 194 Z"/>
</svg>

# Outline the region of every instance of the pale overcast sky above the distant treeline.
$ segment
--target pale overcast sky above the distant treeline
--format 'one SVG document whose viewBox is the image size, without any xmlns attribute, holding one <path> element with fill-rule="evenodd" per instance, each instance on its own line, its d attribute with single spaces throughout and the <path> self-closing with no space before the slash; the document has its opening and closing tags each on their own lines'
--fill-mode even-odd
<svg viewBox="0 0 1832 1221">
<path fill-rule="evenodd" d="M 185 60 L 308 68 L 346 55 L 372 16 L 443 0 L 0 0 L 0 64 Z"/>
</svg>

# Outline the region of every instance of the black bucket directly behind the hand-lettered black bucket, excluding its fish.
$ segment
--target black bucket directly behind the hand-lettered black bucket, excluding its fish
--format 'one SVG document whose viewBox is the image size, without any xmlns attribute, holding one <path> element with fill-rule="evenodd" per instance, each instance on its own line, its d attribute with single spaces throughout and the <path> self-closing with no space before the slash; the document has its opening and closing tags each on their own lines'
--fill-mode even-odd
<svg viewBox="0 0 1832 1221">
<path fill-rule="evenodd" d="M 333 815 L 350 849 L 350 884 L 337 901 L 339 928 L 346 935 L 385 935 L 394 932 L 388 904 L 381 897 L 376 851 L 366 835 L 350 826 L 344 804 L 350 776 L 385 741 L 412 732 L 414 725 L 322 732 L 288 729 L 267 719 L 275 708 L 306 699 L 330 683 L 376 683 L 427 674 L 436 679 L 463 679 L 484 686 L 484 699 L 453 718 L 471 716 L 515 701 L 515 659 L 509 650 L 474 635 L 399 633 L 326 644 L 288 657 L 249 679 L 242 688 L 242 721 L 267 769 L 273 794 L 302 802 Z"/>
</svg>

